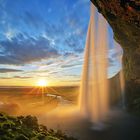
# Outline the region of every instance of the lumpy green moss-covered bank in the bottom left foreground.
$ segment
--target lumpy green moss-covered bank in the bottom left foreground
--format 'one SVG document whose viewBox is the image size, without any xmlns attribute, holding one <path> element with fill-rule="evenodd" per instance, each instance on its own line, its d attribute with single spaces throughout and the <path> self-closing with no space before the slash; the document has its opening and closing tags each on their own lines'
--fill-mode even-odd
<svg viewBox="0 0 140 140">
<path fill-rule="evenodd" d="M 0 113 L 0 140 L 76 140 L 61 130 L 48 130 L 36 117 L 12 117 Z"/>
</svg>

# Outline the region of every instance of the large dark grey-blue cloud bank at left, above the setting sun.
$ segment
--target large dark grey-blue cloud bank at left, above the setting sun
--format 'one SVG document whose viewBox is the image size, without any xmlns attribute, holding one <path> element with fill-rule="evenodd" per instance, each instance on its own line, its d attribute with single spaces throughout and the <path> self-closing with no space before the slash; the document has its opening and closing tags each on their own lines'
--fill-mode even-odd
<svg viewBox="0 0 140 140">
<path fill-rule="evenodd" d="M 58 56 L 58 51 L 44 37 L 24 38 L 21 35 L 0 42 L 0 64 L 23 65 Z"/>
</svg>

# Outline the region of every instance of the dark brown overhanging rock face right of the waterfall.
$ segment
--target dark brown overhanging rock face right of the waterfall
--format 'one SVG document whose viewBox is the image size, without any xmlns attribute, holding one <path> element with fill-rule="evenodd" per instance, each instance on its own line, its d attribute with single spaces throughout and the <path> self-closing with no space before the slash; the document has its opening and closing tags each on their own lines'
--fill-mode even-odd
<svg viewBox="0 0 140 140">
<path fill-rule="evenodd" d="M 91 1 L 107 19 L 115 40 L 124 50 L 123 65 L 129 106 L 132 107 L 138 98 L 140 104 L 140 0 Z"/>
</svg>

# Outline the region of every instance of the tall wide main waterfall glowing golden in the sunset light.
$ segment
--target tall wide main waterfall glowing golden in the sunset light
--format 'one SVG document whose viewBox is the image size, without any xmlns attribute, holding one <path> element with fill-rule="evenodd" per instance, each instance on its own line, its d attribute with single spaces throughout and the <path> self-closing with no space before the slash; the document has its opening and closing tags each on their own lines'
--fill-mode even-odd
<svg viewBox="0 0 140 140">
<path fill-rule="evenodd" d="M 83 115 L 96 123 L 109 109 L 107 42 L 107 22 L 91 4 L 79 103 Z"/>
</svg>

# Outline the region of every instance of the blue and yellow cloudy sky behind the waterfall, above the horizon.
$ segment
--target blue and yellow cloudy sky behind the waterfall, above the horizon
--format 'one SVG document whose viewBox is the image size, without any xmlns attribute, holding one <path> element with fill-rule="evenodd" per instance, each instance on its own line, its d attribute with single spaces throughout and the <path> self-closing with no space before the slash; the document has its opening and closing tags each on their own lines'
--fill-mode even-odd
<svg viewBox="0 0 140 140">
<path fill-rule="evenodd" d="M 0 0 L 0 86 L 78 85 L 89 17 L 89 0 Z M 122 50 L 108 34 L 110 78 Z"/>
</svg>

